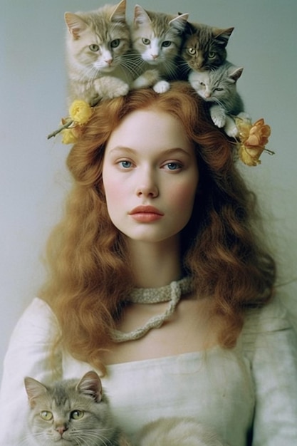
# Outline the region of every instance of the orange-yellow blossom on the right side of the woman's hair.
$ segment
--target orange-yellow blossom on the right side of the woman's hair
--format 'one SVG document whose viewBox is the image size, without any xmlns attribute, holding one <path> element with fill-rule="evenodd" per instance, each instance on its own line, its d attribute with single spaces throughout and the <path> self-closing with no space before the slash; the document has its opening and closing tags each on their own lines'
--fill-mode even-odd
<svg viewBox="0 0 297 446">
<path fill-rule="evenodd" d="M 239 129 L 239 157 L 244 164 L 256 166 L 261 163 L 261 153 L 269 140 L 271 129 L 261 118 L 251 124 L 247 120 L 236 118 L 236 126 Z"/>
</svg>

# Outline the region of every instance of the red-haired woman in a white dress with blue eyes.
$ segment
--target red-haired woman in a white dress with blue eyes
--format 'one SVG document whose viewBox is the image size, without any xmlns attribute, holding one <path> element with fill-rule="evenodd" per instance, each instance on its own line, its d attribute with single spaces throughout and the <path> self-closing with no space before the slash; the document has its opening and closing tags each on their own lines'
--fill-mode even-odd
<svg viewBox="0 0 297 446">
<path fill-rule="evenodd" d="M 296 445 L 296 335 L 233 151 L 187 83 L 93 110 L 51 275 L 6 355 L 1 444 L 24 437 L 25 375 L 95 368 L 131 437 L 182 415 L 230 445 Z"/>
</svg>

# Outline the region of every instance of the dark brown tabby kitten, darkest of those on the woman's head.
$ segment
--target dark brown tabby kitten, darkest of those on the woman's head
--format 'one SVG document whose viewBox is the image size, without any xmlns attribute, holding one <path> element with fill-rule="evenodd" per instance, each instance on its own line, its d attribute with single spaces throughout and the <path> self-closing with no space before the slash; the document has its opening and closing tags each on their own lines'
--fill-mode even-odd
<svg viewBox="0 0 297 446">
<path fill-rule="evenodd" d="M 182 58 L 191 70 L 211 70 L 226 60 L 226 45 L 234 28 L 187 24 Z"/>
</svg>

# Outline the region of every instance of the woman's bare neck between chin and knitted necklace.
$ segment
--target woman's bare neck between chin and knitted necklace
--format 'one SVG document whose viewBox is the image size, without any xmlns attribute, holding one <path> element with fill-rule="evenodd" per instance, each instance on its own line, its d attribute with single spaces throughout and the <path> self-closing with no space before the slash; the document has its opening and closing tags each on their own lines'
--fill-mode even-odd
<svg viewBox="0 0 297 446">
<path fill-rule="evenodd" d="M 131 240 L 129 247 L 135 286 L 158 288 L 182 278 L 179 243 L 176 239 L 161 243 Z"/>
</svg>

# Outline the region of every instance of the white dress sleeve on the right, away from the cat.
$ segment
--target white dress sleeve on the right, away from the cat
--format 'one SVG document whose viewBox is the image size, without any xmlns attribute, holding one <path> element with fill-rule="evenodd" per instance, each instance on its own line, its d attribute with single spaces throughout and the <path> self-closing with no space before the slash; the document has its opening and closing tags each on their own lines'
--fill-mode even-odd
<svg viewBox="0 0 297 446">
<path fill-rule="evenodd" d="M 273 301 L 251 319 L 248 332 L 256 392 L 252 446 L 296 446 L 297 336 L 286 309 Z"/>
</svg>

